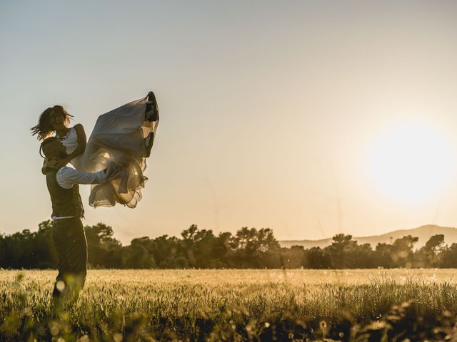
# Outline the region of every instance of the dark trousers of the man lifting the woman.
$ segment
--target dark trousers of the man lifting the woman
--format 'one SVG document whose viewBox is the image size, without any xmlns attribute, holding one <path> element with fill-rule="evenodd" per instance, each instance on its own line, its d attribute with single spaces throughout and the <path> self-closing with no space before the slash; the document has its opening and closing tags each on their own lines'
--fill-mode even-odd
<svg viewBox="0 0 457 342">
<path fill-rule="evenodd" d="M 52 231 L 59 254 L 59 274 L 52 293 L 54 306 L 63 301 L 76 301 L 87 273 L 87 242 L 79 217 L 56 219 Z"/>
</svg>

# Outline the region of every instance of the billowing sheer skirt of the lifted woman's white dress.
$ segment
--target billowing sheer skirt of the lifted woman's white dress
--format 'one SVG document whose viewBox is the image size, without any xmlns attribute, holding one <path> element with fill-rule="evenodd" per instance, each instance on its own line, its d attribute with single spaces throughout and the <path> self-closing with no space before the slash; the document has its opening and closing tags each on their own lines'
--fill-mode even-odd
<svg viewBox="0 0 457 342">
<path fill-rule="evenodd" d="M 159 125 L 154 93 L 100 115 L 82 158 L 86 172 L 109 168 L 102 185 L 92 185 L 89 204 L 112 207 L 116 203 L 134 208 L 141 199 L 147 178 L 146 158 Z"/>
</svg>

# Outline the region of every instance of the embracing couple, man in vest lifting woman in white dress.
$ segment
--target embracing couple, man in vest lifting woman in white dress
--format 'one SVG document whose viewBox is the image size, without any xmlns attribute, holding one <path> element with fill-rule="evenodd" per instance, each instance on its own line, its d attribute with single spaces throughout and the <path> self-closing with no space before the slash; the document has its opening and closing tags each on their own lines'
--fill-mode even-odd
<svg viewBox="0 0 457 342">
<path fill-rule="evenodd" d="M 59 255 L 54 309 L 75 301 L 86 280 L 87 243 L 79 184 L 91 185 L 89 204 L 93 207 L 116 203 L 136 207 L 147 180 L 143 172 L 159 125 L 159 107 L 150 92 L 100 115 L 87 142 L 81 124 L 69 126 L 72 117 L 64 107 L 54 105 L 31 128 L 32 135 L 41 140 L 41 172 L 51 196 L 53 238 Z"/>
</svg>

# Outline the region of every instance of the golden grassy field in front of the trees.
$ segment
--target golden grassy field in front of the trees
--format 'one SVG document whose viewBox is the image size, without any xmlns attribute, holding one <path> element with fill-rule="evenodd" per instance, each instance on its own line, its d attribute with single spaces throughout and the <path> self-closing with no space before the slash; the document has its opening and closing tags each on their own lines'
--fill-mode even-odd
<svg viewBox="0 0 457 342">
<path fill-rule="evenodd" d="M 0 271 L 0 341 L 457 338 L 454 269 L 91 270 L 50 318 L 55 276 Z"/>
</svg>

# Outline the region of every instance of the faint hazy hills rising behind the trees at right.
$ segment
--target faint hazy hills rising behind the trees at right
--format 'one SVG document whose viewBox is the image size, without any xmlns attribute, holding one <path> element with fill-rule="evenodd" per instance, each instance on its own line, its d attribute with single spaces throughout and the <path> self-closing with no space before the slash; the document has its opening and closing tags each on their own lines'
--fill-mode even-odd
<svg viewBox="0 0 457 342">
<path fill-rule="evenodd" d="M 414 228 L 414 229 L 401 229 L 394 230 L 393 232 L 388 232 L 381 235 L 373 235 L 371 237 L 353 237 L 353 240 L 356 240 L 358 244 L 371 244 L 371 247 L 375 248 L 376 244 L 379 242 L 389 244 L 396 239 L 404 237 L 406 235 L 412 235 L 413 237 L 418 237 L 419 241 L 416 243 L 415 247 L 420 248 L 430 237 L 436 234 L 443 234 L 446 244 L 451 245 L 454 242 L 457 242 L 457 228 L 453 227 L 440 227 L 433 224 L 428 224 L 426 226 Z M 291 246 L 303 246 L 306 249 L 311 247 L 326 247 L 332 243 L 332 239 L 320 239 L 320 240 L 284 240 L 280 241 L 281 247 L 291 247 Z"/>
</svg>

